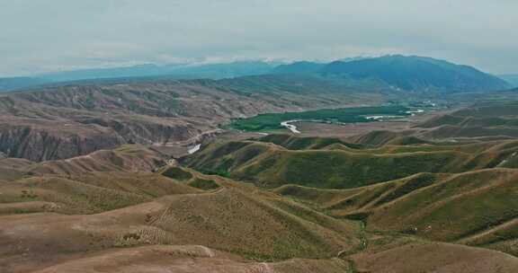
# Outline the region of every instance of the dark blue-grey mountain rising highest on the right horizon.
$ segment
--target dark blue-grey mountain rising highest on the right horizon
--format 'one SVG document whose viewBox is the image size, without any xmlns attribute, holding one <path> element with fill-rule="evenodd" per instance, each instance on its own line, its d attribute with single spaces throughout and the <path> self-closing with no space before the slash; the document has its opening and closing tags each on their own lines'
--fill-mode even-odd
<svg viewBox="0 0 518 273">
<path fill-rule="evenodd" d="M 279 67 L 278 67 L 279 68 Z M 312 73 L 326 77 L 380 81 L 406 91 L 480 92 L 510 87 L 504 80 L 471 66 L 460 66 L 431 57 L 400 55 L 335 61 L 326 65 L 294 63 L 281 67 L 291 73 Z"/>
</svg>

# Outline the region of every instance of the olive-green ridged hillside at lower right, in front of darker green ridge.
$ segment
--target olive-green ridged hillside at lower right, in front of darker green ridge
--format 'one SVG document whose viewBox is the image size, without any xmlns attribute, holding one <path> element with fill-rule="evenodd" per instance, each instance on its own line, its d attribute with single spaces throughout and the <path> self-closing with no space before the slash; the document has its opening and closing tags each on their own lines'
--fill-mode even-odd
<svg viewBox="0 0 518 273">
<path fill-rule="evenodd" d="M 517 190 L 517 175 L 505 168 L 418 173 L 356 189 L 285 185 L 275 192 L 332 216 L 361 219 L 372 231 L 411 233 L 516 255 L 518 211 L 509 193 Z"/>
</svg>

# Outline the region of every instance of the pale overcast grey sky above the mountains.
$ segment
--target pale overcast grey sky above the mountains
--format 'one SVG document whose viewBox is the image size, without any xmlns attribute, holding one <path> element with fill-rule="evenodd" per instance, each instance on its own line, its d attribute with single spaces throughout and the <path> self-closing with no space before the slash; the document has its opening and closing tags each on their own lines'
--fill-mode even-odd
<svg viewBox="0 0 518 273">
<path fill-rule="evenodd" d="M 405 54 L 518 74 L 517 0 L 0 0 L 0 76 Z"/>
</svg>

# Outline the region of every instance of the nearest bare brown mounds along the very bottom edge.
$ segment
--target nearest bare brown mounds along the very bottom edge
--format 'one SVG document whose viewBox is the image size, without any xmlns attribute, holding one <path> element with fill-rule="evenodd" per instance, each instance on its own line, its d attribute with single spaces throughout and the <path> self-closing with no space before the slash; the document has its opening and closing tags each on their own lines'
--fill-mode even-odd
<svg viewBox="0 0 518 273">
<path fill-rule="evenodd" d="M 353 258 L 353 261 L 335 258 L 257 262 L 204 246 L 147 246 L 100 251 L 35 273 L 343 273 L 354 269 L 371 273 L 513 273 L 518 267 L 514 257 L 503 253 L 442 243 L 411 244 Z"/>
</svg>

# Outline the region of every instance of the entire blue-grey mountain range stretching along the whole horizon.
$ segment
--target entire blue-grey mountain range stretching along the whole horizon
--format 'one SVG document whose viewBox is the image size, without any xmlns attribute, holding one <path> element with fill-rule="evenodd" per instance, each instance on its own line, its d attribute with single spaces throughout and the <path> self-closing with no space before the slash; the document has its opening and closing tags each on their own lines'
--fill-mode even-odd
<svg viewBox="0 0 518 273">
<path fill-rule="evenodd" d="M 384 56 L 345 58 L 331 63 L 298 61 L 280 64 L 265 61 L 238 61 L 205 65 L 141 65 L 85 69 L 37 75 L 0 78 L 0 92 L 26 89 L 42 84 L 105 79 L 223 79 L 247 75 L 316 75 L 333 81 L 357 82 L 372 88 L 408 92 L 483 92 L 518 86 L 517 75 L 503 79 L 471 66 L 455 65 L 431 57 Z M 370 85 L 371 84 L 371 85 Z"/>
</svg>

